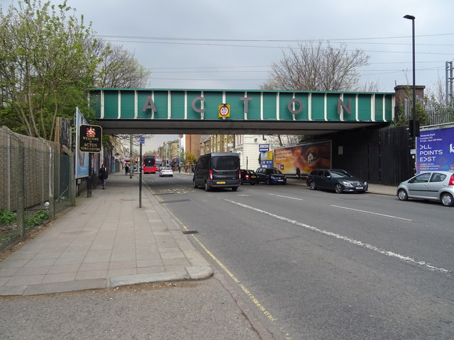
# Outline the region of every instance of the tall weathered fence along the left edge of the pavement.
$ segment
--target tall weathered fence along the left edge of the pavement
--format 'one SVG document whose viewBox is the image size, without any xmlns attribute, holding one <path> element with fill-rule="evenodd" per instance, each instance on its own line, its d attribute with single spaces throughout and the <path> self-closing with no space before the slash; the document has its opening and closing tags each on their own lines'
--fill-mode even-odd
<svg viewBox="0 0 454 340">
<path fill-rule="evenodd" d="M 0 251 L 74 205 L 74 157 L 60 145 L 0 128 Z"/>
</svg>

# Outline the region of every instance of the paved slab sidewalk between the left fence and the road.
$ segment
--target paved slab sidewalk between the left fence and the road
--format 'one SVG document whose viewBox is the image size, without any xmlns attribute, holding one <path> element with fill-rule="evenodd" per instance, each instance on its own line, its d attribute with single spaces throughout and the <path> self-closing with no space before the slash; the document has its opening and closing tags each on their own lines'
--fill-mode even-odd
<svg viewBox="0 0 454 340">
<path fill-rule="evenodd" d="M 213 268 L 138 175 L 111 174 L 76 206 L 0 261 L 0 295 L 35 295 L 207 278 Z M 145 188 L 143 188 L 145 189 Z"/>
</svg>

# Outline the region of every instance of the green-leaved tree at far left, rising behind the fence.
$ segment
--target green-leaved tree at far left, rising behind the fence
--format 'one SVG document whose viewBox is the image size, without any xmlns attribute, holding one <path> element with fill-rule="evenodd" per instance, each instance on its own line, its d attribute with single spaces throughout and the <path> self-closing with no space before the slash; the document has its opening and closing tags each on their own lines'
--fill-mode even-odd
<svg viewBox="0 0 454 340">
<path fill-rule="evenodd" d="M 59 6 L 18 1 L 0 8 L 1 122 L 33 137 L 52 139 L 57 116 L 87 111 L 85 89 L 94 84 L 98 57 L 90 26 Z"/>
</svg>

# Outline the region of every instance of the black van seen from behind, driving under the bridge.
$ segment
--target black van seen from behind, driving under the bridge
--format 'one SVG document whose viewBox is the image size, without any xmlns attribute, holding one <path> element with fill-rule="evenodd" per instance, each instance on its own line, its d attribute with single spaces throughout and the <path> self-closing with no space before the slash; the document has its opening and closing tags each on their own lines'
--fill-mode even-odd
<svg viewBox="0 0 454 340">
<path fill-rule="evenodd" d="M 236 152 L 213 152 L 202 154 L 197 160 L 192 178 L 194 188 L 232 188 L 240 186 L 240 155 Z"/>
</svg>

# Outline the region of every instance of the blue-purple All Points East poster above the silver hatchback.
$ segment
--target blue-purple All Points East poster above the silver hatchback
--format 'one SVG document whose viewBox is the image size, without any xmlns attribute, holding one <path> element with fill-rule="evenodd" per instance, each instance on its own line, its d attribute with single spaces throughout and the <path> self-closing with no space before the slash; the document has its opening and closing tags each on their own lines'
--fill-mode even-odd
<svg viewBox="0 0 454 340">
<path fill-rule="evenodd" d="M 421 131 L 416 145 L 416 172 L 454 171 L 454 128 Z"/>
</svg>

